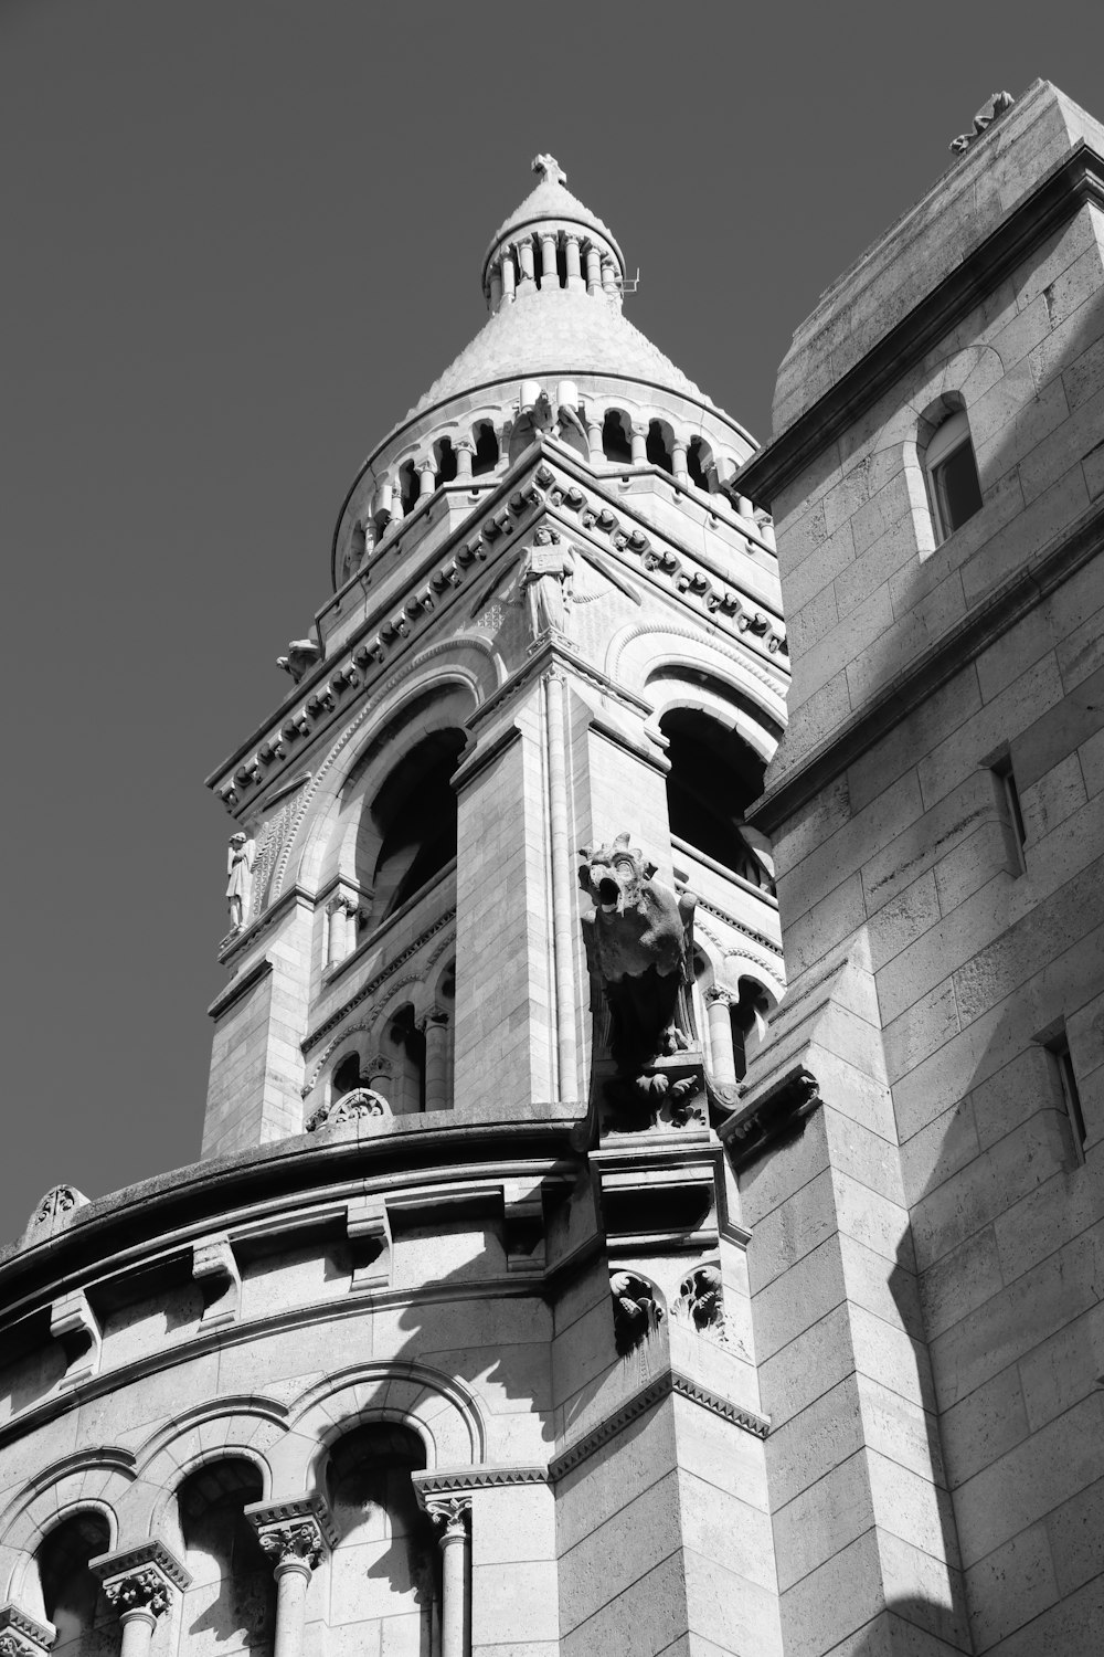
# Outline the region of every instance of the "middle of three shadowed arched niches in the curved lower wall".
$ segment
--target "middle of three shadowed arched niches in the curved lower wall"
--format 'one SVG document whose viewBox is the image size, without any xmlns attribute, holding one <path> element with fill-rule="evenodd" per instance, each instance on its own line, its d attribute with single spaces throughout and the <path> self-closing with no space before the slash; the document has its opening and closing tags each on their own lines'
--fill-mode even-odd
<svg viewBox="0 0 1104 1657">
<path fill-rule="evenodd" d="M 276 1581 L 245 1516 L 247 1503 L 263 1495 L 258 1468 L 243 1457 L 207 1461 L 180 1485 L 177 1518 L 192 1574 L 182 1602 L 182 1644 L 271 1650 Z"/>
</svg>

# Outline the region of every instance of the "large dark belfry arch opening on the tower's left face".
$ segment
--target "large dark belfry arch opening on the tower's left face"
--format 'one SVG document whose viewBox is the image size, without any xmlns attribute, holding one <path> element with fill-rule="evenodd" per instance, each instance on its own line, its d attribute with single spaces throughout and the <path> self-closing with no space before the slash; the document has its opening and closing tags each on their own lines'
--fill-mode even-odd
<svg viewBox="0 0 1104 1657">
<path fill-rule="evenodd" d="M 402 756 L 372 800 L 371 815 L 381 837 L 376 867 L 364 882 L 372 891 L 372 926 L 457 855 L 457 797 L 450 777 L 463 744 L 463 731 L 432 731 Z"/>
</svg>

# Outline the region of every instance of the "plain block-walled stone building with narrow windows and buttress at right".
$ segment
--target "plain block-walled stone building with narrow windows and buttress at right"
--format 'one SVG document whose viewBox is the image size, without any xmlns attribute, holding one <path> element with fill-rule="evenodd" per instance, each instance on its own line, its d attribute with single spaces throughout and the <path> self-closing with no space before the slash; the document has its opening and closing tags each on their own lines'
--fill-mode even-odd
<svg viewBox="0 0 1104 1657">
<path fill-rule="evenodd" d="M 742 1181 L 786 1652 L 1104 1640 L 1104 128 L 998 94 L 798 328 Z"/>
</svg>

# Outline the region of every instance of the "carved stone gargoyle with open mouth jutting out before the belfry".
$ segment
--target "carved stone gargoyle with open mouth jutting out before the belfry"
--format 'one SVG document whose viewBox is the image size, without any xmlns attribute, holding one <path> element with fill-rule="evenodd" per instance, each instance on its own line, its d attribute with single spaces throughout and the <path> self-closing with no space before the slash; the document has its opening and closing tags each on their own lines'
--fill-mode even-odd
<svg viewBox="0 0 1104 1657">
<path fill-rule="evenodd" d="M 619 833 L 612 845 L 581 847 L 579 885 L 594 900 L 583 916 L 591 1012 L 609 1007 L 609 1051 L 622 1075 L 687 1047 L 677 1027 L 690 983 L 694 898 L 654 880 L 655 865 Z"/>
</svg>

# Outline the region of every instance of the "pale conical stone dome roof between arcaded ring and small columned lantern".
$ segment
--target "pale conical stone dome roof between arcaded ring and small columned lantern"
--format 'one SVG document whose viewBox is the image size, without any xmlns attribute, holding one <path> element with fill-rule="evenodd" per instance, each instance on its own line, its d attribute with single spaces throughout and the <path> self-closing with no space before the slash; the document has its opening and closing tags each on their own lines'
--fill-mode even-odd
<svg viewBox="0 0 1104 1657">
<path fill-rule="evenodd" d="M 488 316 L 472 343 L 410 409 L 407 421 L 477 386 L 528 379 L 546 371 L 644 379 L 710 403 L 659 346 L 622 316 L 616 300 L 543 287 L 528 293 L 520 290 L 513 305 L 503 305 Z"/>
</svg>

